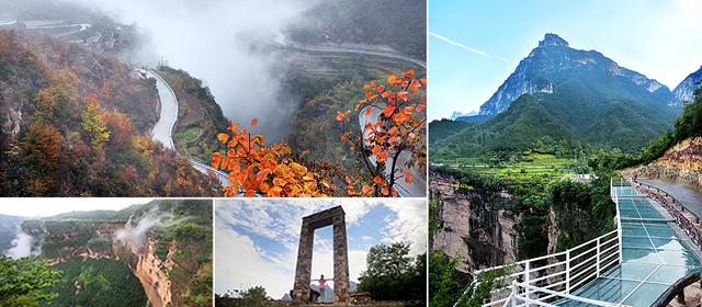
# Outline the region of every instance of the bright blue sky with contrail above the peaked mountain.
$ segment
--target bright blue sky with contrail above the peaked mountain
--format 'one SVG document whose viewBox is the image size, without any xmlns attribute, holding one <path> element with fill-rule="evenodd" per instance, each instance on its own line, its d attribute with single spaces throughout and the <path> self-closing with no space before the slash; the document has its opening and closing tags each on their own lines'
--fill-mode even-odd
<svg viewBox="0 0 702 307">
<path fill-rule="evenodd" d="M 545 33 L 672 90 L 702 65 L 700 15 L 697 0 L 430 0 L 429 117 L 479 109 Z"/>
</svg>

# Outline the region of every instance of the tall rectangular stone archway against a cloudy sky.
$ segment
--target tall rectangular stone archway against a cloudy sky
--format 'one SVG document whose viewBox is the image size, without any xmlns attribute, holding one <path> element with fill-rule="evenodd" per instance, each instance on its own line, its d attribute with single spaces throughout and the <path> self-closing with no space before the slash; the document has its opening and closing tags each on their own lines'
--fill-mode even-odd
<svg viewBox="0 0 702 307">
<path fill-rule="evenodd" d="M 349 303 L 349 250 L 347 247 L 346 213 L 341 206 L 303 217 L 303 227 L 297 247 L 297 266 L 293 302 L 310 303 L 309 282 L 315 229 L 333 226 L 333 302 Z"/>
</svg>

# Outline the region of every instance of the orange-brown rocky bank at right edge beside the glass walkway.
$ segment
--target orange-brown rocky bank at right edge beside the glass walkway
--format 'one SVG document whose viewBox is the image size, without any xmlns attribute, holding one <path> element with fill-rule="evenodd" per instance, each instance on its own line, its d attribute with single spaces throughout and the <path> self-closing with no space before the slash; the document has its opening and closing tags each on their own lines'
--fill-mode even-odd
<svg viewBox="0 0 702 307">
<path fill-rule="evenodd" d="M 666 150 L 663 157 L 635 170 L 647 178 L 663 178 L 702 187 L 702 137 L 691 137 Z"/>
</svg>

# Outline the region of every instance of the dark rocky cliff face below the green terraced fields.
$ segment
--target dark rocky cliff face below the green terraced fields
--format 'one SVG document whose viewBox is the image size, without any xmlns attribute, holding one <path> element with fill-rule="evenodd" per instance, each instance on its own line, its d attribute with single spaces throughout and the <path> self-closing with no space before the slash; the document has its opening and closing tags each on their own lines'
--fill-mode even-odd
<svg viewBox="0 0 702 307">
<path fill-rule="evenodd" d="M 466 273 L 516 260 L 519 216 L 494 207 L 491 202 L 509 195 L 468 190 L 438 174 L 431 175 L 431 182 L 430 193 L 440 200 L 439 230 L 430 242 L 432 250 L 457 255 L 456 270 Z"/>
</svg>

